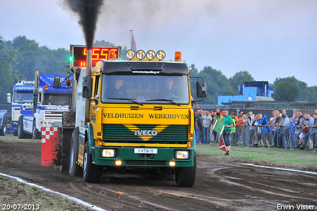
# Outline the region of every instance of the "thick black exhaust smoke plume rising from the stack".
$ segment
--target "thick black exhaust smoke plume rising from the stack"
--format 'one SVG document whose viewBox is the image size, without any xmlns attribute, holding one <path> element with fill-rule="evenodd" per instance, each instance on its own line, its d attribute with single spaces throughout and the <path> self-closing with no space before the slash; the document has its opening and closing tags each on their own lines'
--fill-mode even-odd
<svg viewBox="0 0 317 211">
<path fill-rule="evenodd" d="M 92 49 L 98 14 L 104 0 L 64 0 L 64 5 L 79 15 L 78 23 L 82 26 L 87 49 Z"/>
</svg>

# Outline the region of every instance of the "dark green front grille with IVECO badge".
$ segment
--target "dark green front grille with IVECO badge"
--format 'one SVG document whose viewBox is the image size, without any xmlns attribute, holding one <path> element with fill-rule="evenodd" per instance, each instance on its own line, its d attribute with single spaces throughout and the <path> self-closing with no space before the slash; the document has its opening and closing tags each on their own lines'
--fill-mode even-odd
<svg viewBox="0 0 317 211">
<path fill-rule="evenodd" d="M 128 128 L 130 128 L 130 130 Z M 156 126 L 156 125 L 103 125 L 103 140 L 106 142 L 117 143 L 174 143 L 186 144 L 188 141 L 188 125 L 169 125 L 169 126 Z M 135 135 L 134 129 L 139 130 L 153 130 L 164 128 L 156 136 L 144 141 L 139 136 Z"/>
</svg>

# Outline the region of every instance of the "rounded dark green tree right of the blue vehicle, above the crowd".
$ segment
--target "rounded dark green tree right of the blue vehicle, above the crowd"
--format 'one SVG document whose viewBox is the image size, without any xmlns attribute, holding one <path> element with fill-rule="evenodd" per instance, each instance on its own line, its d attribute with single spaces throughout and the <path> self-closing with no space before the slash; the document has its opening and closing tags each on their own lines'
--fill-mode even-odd
<svg viewBox="0 0 317 211">
<path fill-rule="evenodd" d="M 301 94 L 299 85 L 291 81 L 280 81 L 274 88 L 276 101 L 296 102 Z"/>
</svg>

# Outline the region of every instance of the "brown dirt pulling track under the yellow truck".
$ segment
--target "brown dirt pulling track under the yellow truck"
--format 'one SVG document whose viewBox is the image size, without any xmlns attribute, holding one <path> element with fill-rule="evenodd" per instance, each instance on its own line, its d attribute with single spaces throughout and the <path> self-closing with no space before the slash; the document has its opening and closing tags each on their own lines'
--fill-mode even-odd
<svg viewBox="0 0 317 211">
<path fill-rule="evenodd" d="M 6 136 L 5 139 L 16 139 Z M 1 138 L 3 140 L 3 138 Z M 26 140 L 27 141 L 27 140 Z M 241 165 L 248 160 L 198 155 L 193 188 L 145 175 L 104 173 L 100 184 L 84 183 L 41 166 L 41 142 L 0 141 L 0 172 L 79 198 L 108 211 L 273 211 L 277 205 L 314 205 L 317 175 Z M 257 161 L 257 165 L 281 166 Z M 300 168 L 317 172 L 316 168 Z"/>
</svg>

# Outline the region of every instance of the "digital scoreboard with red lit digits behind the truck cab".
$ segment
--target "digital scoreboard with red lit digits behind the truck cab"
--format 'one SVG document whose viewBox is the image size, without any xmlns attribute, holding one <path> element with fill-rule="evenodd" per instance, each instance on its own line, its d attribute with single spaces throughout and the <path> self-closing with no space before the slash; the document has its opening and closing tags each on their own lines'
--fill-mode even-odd
<svg viewBox="0 0 317 211">
<path fill-rule="evenodd" d="M 97 46 L 92 48 L 92 67 L 97 62 L 108 59 L 109 51 L 115 52 L 115 59 L 121 58 L 120 46 Z M 86 67 L 87 48 L 86 46 L 70 45 L 70 65 L 72 67 Z"/>
</svg>

